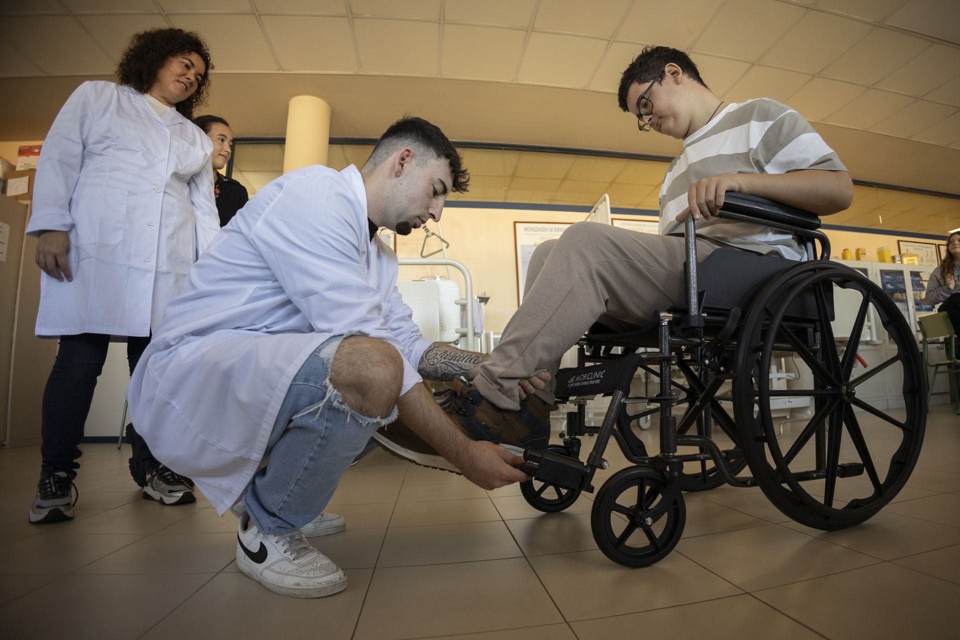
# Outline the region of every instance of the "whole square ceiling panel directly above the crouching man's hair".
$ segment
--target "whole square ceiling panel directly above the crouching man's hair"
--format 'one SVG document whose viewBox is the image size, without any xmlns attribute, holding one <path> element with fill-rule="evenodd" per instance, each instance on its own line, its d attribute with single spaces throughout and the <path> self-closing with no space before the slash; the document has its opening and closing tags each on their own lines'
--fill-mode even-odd
<svg viewBox="0 0 960 640">
<path fill-rule="evenodd" d="M 437 75 L 439 29 L 433 22 L 353 19 L 365 73 Z"/>
</svg>

